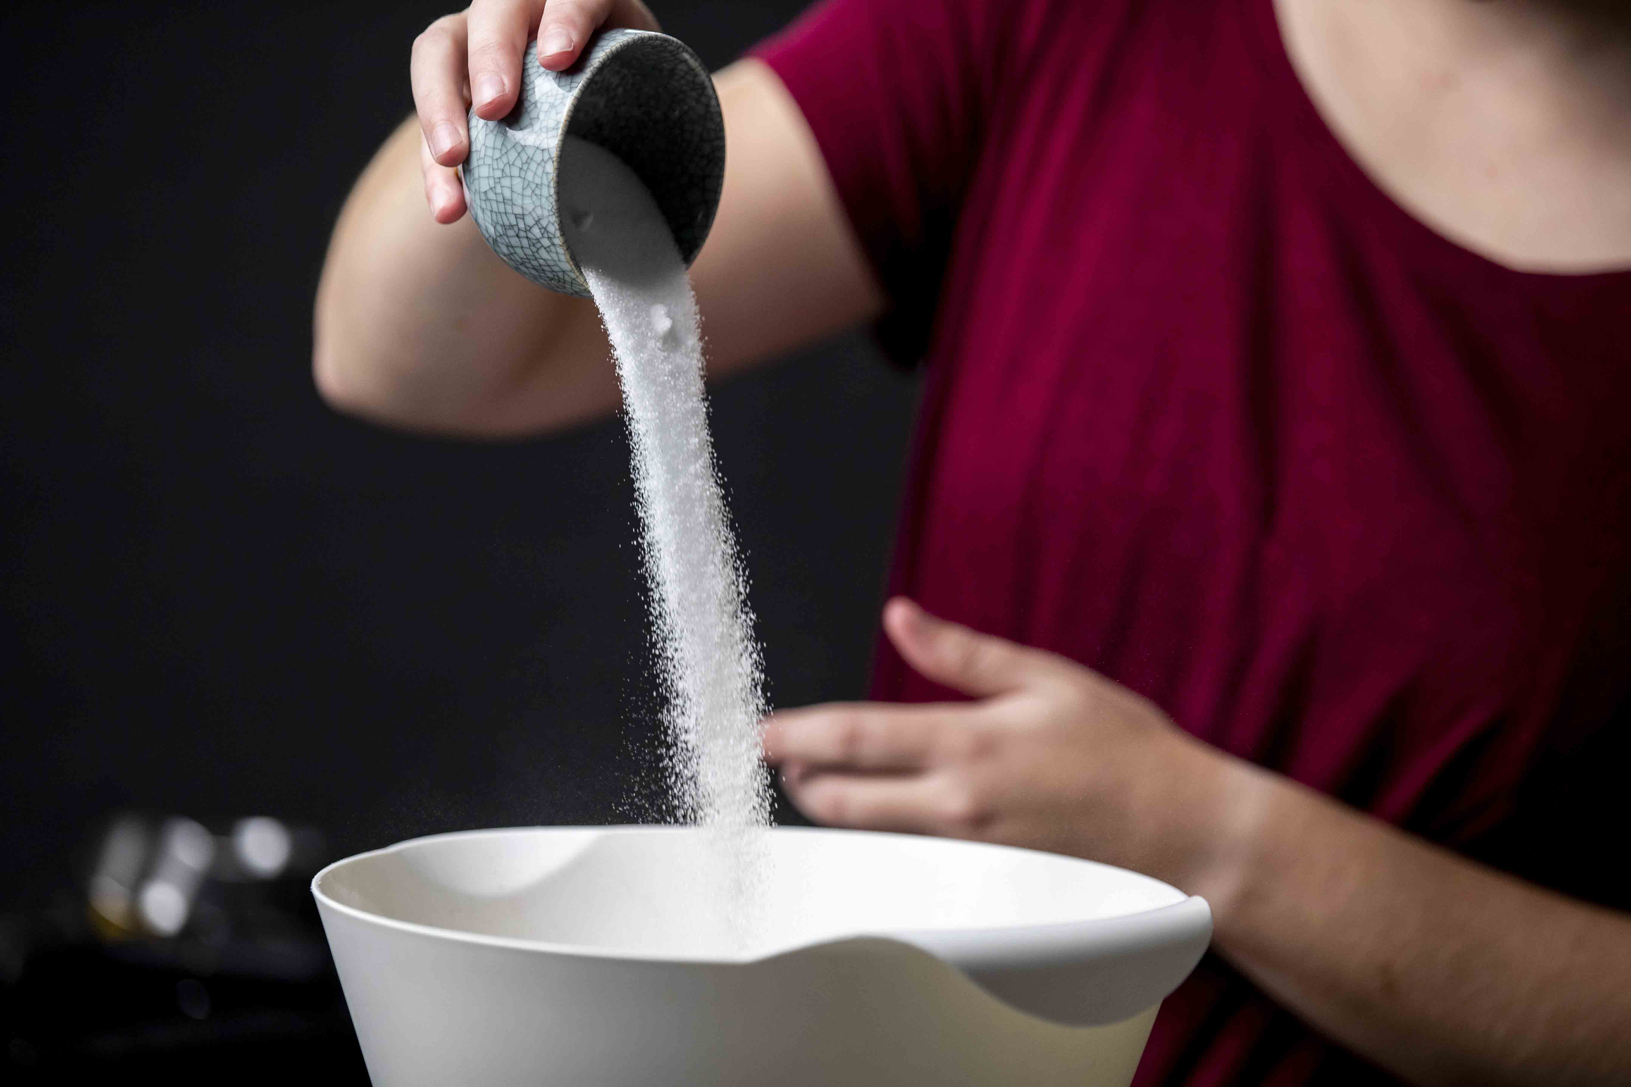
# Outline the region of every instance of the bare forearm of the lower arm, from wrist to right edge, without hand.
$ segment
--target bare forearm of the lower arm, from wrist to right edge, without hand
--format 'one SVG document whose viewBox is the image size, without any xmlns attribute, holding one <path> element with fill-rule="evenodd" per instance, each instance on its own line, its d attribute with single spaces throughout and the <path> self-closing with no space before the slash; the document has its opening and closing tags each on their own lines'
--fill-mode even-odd
<svg viewBox="0 0 1631 1087">
<path fill-rule="evenodd" d="M 1254 776 L 1217 922 L 1241 971 L 1414 1082 L 1631 1084 L 1631 918 Z"/>
</svg>

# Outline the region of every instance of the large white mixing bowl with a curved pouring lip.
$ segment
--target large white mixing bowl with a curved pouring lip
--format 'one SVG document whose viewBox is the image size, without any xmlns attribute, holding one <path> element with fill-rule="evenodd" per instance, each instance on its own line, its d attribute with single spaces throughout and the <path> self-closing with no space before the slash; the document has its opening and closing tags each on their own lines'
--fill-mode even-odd
<svg viewBox="0 0 1631 1087">
<path fill-rule="evenodd" d="M 1202 900 L 1090 860 L 778 828 L 740 947 L 709 849 L 470 831 L 320 872 L 375 1087 L 1125 1087 L 1212 935 Z"/>
</svg>

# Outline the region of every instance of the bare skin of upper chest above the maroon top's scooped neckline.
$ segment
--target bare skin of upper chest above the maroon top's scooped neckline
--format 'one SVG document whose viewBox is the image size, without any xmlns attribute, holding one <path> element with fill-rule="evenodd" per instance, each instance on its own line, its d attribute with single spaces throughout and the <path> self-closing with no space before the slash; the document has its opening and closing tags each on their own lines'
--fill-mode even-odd
<svg viewBox="0 0 1631 1087">
<path fill-rule="evenodd" d="M 1337 139 L 1427 225 L 1510 267 L 1631 267 L 1631 3 L 1275 10 Z"/>
</svg>

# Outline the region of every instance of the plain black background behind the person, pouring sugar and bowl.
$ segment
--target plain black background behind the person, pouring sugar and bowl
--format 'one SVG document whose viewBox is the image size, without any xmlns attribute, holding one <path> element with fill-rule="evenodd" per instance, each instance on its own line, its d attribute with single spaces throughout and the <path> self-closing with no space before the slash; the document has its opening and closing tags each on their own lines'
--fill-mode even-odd
<svg viewBox="0 0 1631 1087">
<path fill-rule="evenodd" d="M 338 856 L 654 795 L 621 424 L 440 442 L 312 386 L 329 228 L 447 5 L 0 15 L 0 908 L 127 807 Z M 719 67 L 802 3 L 654 7 Z M 863 691 L 912 403 L 860 337 L 716 389 L 780 706 Z"/>
</svg>

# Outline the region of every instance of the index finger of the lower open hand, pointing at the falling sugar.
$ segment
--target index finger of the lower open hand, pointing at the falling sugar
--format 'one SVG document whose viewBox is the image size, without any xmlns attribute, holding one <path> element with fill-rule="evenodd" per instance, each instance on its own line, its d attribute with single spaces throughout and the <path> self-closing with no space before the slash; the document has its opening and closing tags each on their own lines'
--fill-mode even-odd
<svg viewBox="0 0 1631 1087">
<path fill-rule="evenodd" d="M 832 702 L 773 714 L 765 722 L 765 759 L 814 769 L 910 771 L 933 763 L 938 738 L 967 727 L 964 706 Z"/>
</svg>

